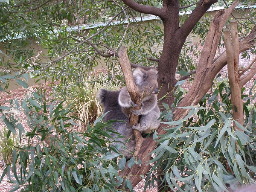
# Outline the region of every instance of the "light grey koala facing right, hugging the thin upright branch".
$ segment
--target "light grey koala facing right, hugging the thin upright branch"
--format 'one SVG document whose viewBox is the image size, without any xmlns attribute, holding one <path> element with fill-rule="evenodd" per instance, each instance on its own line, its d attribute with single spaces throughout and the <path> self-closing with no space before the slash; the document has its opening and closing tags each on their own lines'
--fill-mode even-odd
<svg viewBox="0 0 256 192">
<path fill-rule="evenodd" d="M 140 115 L 139 123 L 133 125 L 132 128 L 137 129 L 141 133 L 148 134 L 152 129 L 157 129 L 160 125 L 160 120 L 158 120 L 160 117 L 160 110 L 157 106 L 156 95 L 158 93 L 157 70 L 152 68 L 146 71 L 138 67 L 134 70 L 133 76 L 134 82 L 140 92 L 143 92 L 145 89 L 149 92 L 152 87 L 154 88 L 151 95 L 142 100 L 140 110 L 132 111 L 135 115 Z M 137 106 L 137 104 L 131 100 L 126 87 L 120 91 L 118 102 L 127 116 L 129 116 L 130 109 Z"/>
</svg>

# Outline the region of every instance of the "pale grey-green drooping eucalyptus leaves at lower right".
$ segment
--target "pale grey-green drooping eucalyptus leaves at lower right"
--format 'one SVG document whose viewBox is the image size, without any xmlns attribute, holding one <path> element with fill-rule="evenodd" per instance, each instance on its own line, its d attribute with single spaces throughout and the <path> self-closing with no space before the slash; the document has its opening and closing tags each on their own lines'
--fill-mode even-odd
<svg viewBox="0 0 256 192">
<path fill-rule="evenodd" d="M 221 83 L 207 94 L 199 106 L 186 107 L 189 114 L 172 121 L 169 110 L 163 117 L 167 134 L 152 151 L 156 157 L 152 177 L 146 184 L 154 186 L 157 170 L 163 170 L 164 185 L 172 190 L 199 192 L 227 191 L 253 183 L 256 177 L 256 107 L 248 111 L 252 98 L 243 96 L 244 125 L 234 121 L 230 88 Z M 234 123 L 243 131 L 235 130 Z M 162 189 L 164 191 L 165 189 Z"/>
</svg>

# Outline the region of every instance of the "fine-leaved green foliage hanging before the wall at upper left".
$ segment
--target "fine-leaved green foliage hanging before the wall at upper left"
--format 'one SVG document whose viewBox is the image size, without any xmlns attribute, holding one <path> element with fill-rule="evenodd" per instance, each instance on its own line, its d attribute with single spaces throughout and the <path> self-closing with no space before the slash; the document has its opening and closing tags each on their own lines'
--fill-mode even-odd
<svg viewBox="0 0 256 192">
<path fill-rule="evenodd" d="M 117 84 L 122 82 L 120 69 L 116 67 L 118 60 L 113 57 L 101 58 L 90 43 L 83 42 L 90 36 L 94 36 L 90 42 L 99 52 L 108 53 L 127 45 L 132 62 L 155 65 L 147 58 L 159 57 L 159 52 L 151 47 L 163 44 L 160 21 L 140 23 L 133 20 L 125 32 L 126 17 L 122 12 L 117 15 L 122 11 L 121 6 L 125 5 L 121 1 L 118 3 L 100 0 L 93 3 L 88 0 L 39 0 L 32 4 L 27 0 L 11 0 L 9 4 L 0 3 L 0 76 L 13 76 L 12 72 L 21 76 L 29 72 L 34 78 L 60 81 L 65 87 L 71 82 L 81 83 L 94 67 L 104 65 L 112 71 L 108 80 L 114 74 Z M 160 6 L 159 1 L 141 3 Z M 129 18 L 143 16 L 131 10 L 127 10 L 126 14 Z M 107 25 L 112 17 L 116 21 Z M 95 28 L 83 25 L 96 22 L 103 23 Z M 124 39 L 121 42 L 122 36 Z M 44 51 L 34 61 L 33 55 L 41 51 L 38 44 Z M 8 83 L 1 81 L 2 85 L 8 86 Z"/>
</svg>

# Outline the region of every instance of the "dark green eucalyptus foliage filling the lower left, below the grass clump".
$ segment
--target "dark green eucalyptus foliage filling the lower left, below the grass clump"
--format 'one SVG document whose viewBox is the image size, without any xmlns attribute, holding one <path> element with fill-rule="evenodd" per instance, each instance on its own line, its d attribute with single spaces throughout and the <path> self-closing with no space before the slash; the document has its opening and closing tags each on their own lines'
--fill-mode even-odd
<svg viewBox="0 0 256 192">
<path fill-rule="evenodd" d="M 62 102 L 41 103 L 42 98 L 33 97 L 17 102 L 17 110 L 23 111 L 28 119 L 30 131 L 15 123 L 14 118 L 1 118 L 9 132 L 19 129 L 25 132 L 28 143 L 13 150 L 12 164 L 8 164 L 3 175 L 11 177 L 11 166 L 15 183 L 12 191 L 24 186 L 21 191 L 113 191 L 122 178 L 118 176 L 119 167 L 123 169 L 124 159 L 119 165 L 114 161 L 119 154 L 108 140 L 110 136 L 103 130 L 111 122 L 103 124 L 98 119 L 93 127 L 84 133 L 74 131 L 70 110 Z M 8 111 L 7 107 L 2 107 Z M 10 109 L 9 109 L 10 110 Z M 113 160 L 112 160 L 113 159 Z M 16 169 L 20 170 L 20 175 Z"/>
</svg>

